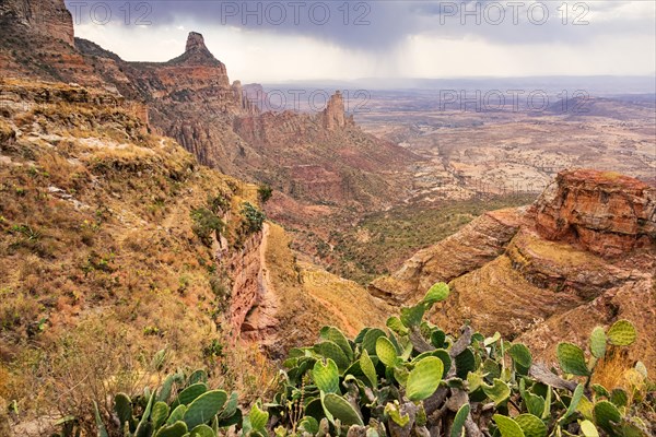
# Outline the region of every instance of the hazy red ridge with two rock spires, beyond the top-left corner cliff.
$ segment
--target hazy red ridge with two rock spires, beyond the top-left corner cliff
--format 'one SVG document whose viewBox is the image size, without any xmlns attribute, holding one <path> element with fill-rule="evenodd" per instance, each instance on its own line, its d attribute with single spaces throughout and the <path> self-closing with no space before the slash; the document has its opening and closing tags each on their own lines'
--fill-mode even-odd
<svg viewBox="0 0 656 437">
<path fill-rule="evenodd" d="M 125 62 L 82 39 L 77 46 L 105 81 L 148 103 L 153 129 L 206 165 L 307 202 L 382 204 L 405 191 L 386 176 L 415 157 L 358 128 L 339 91 L 315 115 L 260 113 L 261 86 L 231 85 L 198 33 L 163 63 Z"/>
</svg>

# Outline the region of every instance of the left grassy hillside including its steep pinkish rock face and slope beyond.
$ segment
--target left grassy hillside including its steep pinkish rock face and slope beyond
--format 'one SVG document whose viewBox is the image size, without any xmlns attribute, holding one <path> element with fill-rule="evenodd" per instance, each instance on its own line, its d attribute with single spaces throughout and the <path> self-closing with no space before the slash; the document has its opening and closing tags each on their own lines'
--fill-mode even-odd
<svg viewBox="0 0 656 437">
<path fill-rule="evenodd" d="M 239 339 L 278 356 L 323 324 L 383 324 L 364 288 L 297 263 L 280 227 L 273 237 L 250 227 L 243 211 L 258 204 L 257 186 L 199 165 L 145 122 L 140 106 L 106 90 L 0 82 L 2 409 L 16 399 L 21 411 L 82 417 L 89 402 L 39 397 L 75 386 L 66 397 L 79 402 L 116 371 L 152 371 L 148 359 L 165 345 L 165 369 L 247 379 L 256 358 Z M 349 312 L 352 302 L 366 317 Z M 45 367 L 28 364 L 33 354 Z M 21 426 L 16 435 L 28 435 Z"/>
</svg>

